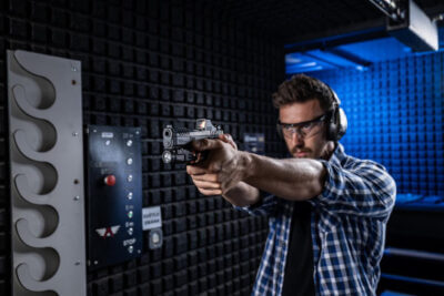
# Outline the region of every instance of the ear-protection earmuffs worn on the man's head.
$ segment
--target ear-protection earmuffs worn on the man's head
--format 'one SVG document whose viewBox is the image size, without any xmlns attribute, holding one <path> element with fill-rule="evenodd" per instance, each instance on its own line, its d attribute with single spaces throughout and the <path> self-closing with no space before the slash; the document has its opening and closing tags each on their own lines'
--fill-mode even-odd
<svg viewBox="0 0 444 296">
<path fill-rule="evenodd" d="M 347 129 L 347 119 L 344 110 L 340 106 L 341 100 L 337 94 L 330 88 L 329 84 L 324 83 L 333 98 L 332 108 L 327 111 L 326 123 L 326 140 L 336 142 L 345 134 Z M 276 123 L 276 131 L 280 137 L 283 137 L 282 127 Z"/>
</svg>

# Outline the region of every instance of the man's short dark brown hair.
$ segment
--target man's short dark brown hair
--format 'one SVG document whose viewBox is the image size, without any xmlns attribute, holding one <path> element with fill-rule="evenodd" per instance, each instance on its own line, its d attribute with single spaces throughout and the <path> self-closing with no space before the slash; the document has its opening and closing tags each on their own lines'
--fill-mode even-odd
<svg viewBox="0 0 444 296">
<path fill-rule="evenodd" d="M 330 88 L 319 79 L 305 74 L 296 74 L 285 80 L 273 93 L 273 105 L 280 109 L 282 105 L 306 102 L 316 99 L 323 111 L 329 111 L 334 104 L 334 98 Z"/>
</svg>

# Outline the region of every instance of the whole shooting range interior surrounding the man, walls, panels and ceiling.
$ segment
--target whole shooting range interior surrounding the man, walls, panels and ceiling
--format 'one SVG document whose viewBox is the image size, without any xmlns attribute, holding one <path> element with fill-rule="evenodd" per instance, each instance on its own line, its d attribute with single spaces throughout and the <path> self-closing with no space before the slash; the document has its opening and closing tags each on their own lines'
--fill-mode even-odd
<svg viewBox="0 0 444 296">
<path fill-rule="evenodd" d="M 289 157 L 272 94 L 297 73 L 396 182 L 376 294 L 443 295 L 443 20 L 441 0 L 1 1 L 0 295 L 250 295 L 268 218 L 202 195 L 164 139 Z"/>
</svg>

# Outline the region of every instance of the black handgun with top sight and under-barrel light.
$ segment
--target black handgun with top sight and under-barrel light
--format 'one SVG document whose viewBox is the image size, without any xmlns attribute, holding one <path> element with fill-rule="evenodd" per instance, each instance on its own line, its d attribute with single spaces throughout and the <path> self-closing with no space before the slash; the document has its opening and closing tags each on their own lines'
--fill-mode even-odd
<svg viewBox="0 0 444 296">
<path fill-rule="evenodd" d="M 205 159 L 206 153 L 201 153 L 198 157 L 196 154 L 191 151 L 191 142 L 202 139 L 218 139 L 220 134 L 223 134 L 221 126 L 214 126 L 211 120 L 205 119 L 195 121 L 195 130 L 167 125 L 163 129 L 164 151 L 162 153 L 162 161 L 164 163 L 201 162 Z"/>
</svg>

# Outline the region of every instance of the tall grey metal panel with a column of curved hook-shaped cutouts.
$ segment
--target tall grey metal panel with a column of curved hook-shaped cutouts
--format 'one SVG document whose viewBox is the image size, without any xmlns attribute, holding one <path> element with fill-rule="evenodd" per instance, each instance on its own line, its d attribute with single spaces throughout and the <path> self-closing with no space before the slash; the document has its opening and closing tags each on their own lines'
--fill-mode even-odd
<svg viewBox="0 0 444 296">
<path fill-rule="evenodd" d="M 80 62 L 8 51 L 13 295 L 85 295 Z"/>
</svg>

